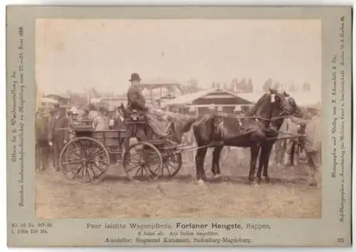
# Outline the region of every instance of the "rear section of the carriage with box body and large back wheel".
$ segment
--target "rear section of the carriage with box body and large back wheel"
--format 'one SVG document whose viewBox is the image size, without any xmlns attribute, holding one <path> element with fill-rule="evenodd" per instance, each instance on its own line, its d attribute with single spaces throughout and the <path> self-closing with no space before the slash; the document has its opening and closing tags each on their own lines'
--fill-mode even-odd
<svg viewBox="0 0 356 252">
<path fill-rule="evenodd" d="M 111 164 L 120 162 L 125 130 L 94 131 L 92 120 L 70 121 L 71 140 L 63 147 L 59 164 L 74 182 L 100 182 Z"/>
</svg>

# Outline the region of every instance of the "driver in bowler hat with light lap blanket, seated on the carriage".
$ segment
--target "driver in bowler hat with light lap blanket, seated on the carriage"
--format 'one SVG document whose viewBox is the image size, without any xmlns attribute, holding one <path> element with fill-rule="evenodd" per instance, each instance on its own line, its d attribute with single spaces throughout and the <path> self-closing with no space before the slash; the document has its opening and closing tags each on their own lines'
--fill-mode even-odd
<svg viewBox="0 0 356 252">
<path fill-rule="evenodd" d="M 127 108 L 129 110 L 145 111 L 147 117 L 147 124 L 150 125 L 151 130 L 159 137 L 166 137 L 166 133 L 162 129 L 163 123 L 159 122 L 159 111 L 153 107 L 146 106 L 146 100 L 140 90 L 141 78 L 138 73 L 132 73 L 130 78 L 130 88 L 127 90 Z"/>
</svg>

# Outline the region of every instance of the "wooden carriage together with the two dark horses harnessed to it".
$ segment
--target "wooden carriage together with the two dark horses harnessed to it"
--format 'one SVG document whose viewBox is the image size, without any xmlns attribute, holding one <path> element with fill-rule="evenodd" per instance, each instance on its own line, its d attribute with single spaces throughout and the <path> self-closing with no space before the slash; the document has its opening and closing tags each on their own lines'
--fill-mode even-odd
<svg viewBox="0 0 356 252">
<path fill-rule="evenodd" d="M 278 137 L 283 120 L 298 114 L 299 110 L 295 101 L 287 97 L 286 93 L 276 91 L 266 93 L 245 116 L 214 113 L 201 117 L 180 115 L 184 117 L 184 123 L 180 126 L 179 134 L 176 133 L 178 127 L 175 128 L 176 124 L 173 123 L 173 127 L 168 128 L 170 134 L 157 140 L 152 137 L 146 112 L 126 111 L 122 106 L 125 130 L 93 131 L 90 121 L 73 125 L 75 137 L 63 148 L 60 167 L 70 179 L 79 179 L 86 184 L 103 179 L 111 164 L 122 164 L 131 181 L 157 179 L 176 175 L 182 167 L 182 152 L 197 150 L 197 179 L 205 180 L 204 159 L 208 148 L 214 149 L 211 172 L 216 175 L 220 174 L 219 160 L 224 146 L 248 147 L 251 153 L 248 179 L 254 179 L 258 152 L 261 150 L 257 177 L 261 181 L 263 169 L 263 176 L 268 182 L 268 162 L 274 142 L 304 136 L 286 132 L 287 137 Z M 197 146 L 178 145 L 182 140 L 178 135 L 187 132 L 193 124 L 194 138 L 199 140 Z M 150 133 L 151 137 L 148 137 Z M 123 142 L 127 143 L 131 137 L 139 142 L 129 147 L 124 144 L 126 147 L 123 148 Z"/>
</svg>

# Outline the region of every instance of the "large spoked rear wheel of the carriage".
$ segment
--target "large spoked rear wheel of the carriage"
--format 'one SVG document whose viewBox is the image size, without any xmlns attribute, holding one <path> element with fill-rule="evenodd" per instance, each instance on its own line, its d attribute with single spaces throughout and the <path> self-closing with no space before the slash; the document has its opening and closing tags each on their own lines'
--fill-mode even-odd
<svg viewBox="0 0 356 252">
<path fill-rule="evenodd" d="M 108 173 L 110 165 L 108 149 L 90 137 L 78 137 L 68 142 L 59 160 L 63 174 L 80 184 L 100 182 Z"/>
</svg>

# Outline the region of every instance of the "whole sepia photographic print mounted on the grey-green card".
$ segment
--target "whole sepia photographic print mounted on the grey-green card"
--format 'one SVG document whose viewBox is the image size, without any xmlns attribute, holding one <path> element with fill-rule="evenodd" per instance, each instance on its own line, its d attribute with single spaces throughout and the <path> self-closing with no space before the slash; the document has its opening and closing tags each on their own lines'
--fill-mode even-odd
<svg viewBox="0 0 356 252">
<path fill-rule="evenodd" d="M 36 218 L 321 218 L 321 27 L 37 19 Z"/>
</svg>

